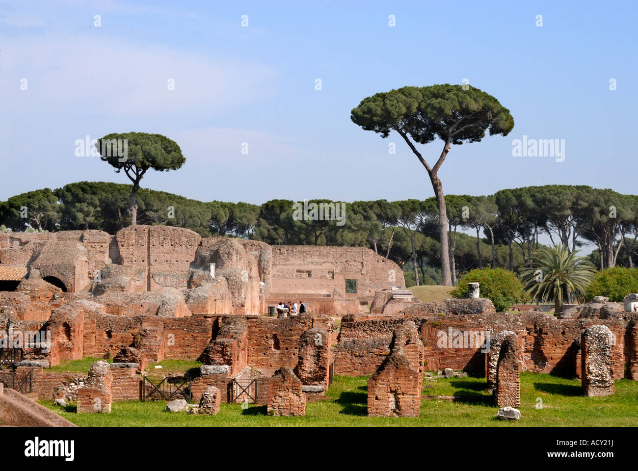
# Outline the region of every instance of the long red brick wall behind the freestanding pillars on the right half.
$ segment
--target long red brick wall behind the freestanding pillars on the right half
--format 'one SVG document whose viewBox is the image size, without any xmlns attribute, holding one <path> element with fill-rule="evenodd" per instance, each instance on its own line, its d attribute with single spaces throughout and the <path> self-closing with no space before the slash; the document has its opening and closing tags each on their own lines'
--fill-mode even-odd
<svg viewBox="0 0 638 471">
<path fill-rule="evenodd" d="M 589 325 L 603 324 L 616 335 L 614 364 L 616 378 L 623 377 L 625 363 L 625 324 L 621 319 L 556 319 L 543 313 L 521 315 L 473 314 L 436 317 L 348 315 L 341 320 L 338 345 L 334 355 L 334 371 L 339 375 L 369 374 L 366 364 L 382 363 L 387 356 L 387 337 L 404 320 L 413 320 L 420 327 L 424 343 L 426 371 L 441 368 L 485 374 L 485 357 L 480 347 L 471 345 L 471 333 L 488 332 L 494 335 L 503 330 L 519 335 L 519 362 L 523 371 L 554 373 L 567 377 L 575 375 L 576 340 Z M 463 347 L 440 348 L 440 332 L 460 331 Z M 362 340 L 376 339 L 377 342 Z M 357 341 L 358 340 L 358 341 Z M 454 338 L 452 338 L 452 341 Z M 467 346 L 465 346 L 467 345 Z M 367 371 L 367 372 L 366 372 Z"/>
</svg>

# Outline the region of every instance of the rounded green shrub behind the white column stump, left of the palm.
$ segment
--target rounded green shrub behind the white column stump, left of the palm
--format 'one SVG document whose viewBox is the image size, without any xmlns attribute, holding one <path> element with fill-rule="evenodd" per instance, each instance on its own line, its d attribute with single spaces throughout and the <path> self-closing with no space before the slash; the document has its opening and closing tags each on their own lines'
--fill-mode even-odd
<svg viewBox="0 0 638 471">
<path fill-rule="evenodd" d="M 479 283 L 480 297 L 490 299 L 498 312 L 530 300 L 518 276 L 502 268 L 475 268 L 464 273 L 450 293 L 452 297 L 468 297 L 468 283 Z"/>
</svg>

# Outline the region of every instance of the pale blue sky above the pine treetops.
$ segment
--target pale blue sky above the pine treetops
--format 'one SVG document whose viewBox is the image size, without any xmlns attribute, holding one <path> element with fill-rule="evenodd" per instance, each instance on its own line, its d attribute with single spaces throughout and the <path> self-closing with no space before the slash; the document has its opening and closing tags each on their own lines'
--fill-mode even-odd
<svg viewBox="0 0 638 471">
<path fill-rule="evenodd" d="M 75 156 L 78 138 L 127 131 L 167 135 L 186 156 L 145 188 L 255 204 L 424 199 L 433 190 L 406 144 L 362 130 L 350 110 L 379 91 L 464 79 L 516 124 L 453 146 L 445 193 L 551 183 L 634 193 L 637 12 L 629 1 L 0 1 L 0 200 L 128 183 Z M 565 161 L 513 157 L 523 135 L 564 139 Z M 433 161 L 441 147 L 420 150 Z"/>
</svg>

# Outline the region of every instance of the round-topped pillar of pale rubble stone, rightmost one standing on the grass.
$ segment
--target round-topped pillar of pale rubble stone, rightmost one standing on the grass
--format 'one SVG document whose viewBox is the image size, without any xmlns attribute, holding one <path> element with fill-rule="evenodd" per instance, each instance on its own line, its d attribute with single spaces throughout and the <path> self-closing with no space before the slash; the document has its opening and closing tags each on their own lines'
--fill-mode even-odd
<svg viewBox="0 0 638 471">
<path fill-rule="evenodd" d="M 591 325 L 581 336 L 582 393 L 588 397 L 614 394 L 614 336 L 606 325 Z"/>
</svg>

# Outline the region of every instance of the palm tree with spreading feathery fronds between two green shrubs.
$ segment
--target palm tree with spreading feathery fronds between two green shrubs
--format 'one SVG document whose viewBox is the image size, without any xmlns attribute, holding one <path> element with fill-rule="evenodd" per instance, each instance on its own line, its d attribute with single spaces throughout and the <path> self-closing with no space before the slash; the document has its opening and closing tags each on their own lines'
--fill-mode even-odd
<svg viewBox="0 0 638 471">
<path fill-rule="evenodd" d="M 523 283 L 532 299 L 554 301 L 554 314 L 560 313 L 570 294 L 584 300 L 585 290 L 595 274 L 594 267 L 579 251 L 569 252 L 562 245 L 542 246 L 531 257 L 531 265 L 523 271 Z"/>
</svg>

